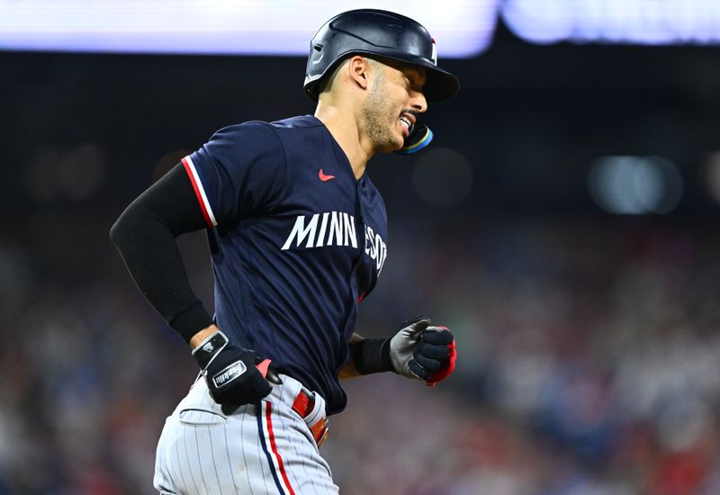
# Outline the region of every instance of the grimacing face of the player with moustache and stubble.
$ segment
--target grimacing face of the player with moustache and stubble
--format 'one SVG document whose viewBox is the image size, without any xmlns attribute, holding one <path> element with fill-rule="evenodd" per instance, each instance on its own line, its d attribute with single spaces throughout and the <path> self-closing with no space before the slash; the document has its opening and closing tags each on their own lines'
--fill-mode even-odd
<svg viewBox="0 0 720 495">
<path fill-rule="evenodd" d="M 388 62 L 375 66 L 374 84 L 365 99 L 365 129 L 377 152 L 402 148 L 416 115 L 428 110 L 422 93 L 425 68 Z"/>
</svg>

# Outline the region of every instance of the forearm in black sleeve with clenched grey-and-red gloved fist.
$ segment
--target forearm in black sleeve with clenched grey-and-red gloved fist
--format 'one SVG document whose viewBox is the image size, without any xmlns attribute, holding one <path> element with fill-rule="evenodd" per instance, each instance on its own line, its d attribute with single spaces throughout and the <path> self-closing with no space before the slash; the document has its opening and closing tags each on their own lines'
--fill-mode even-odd
<svg viewBox="0 0 720 495">
<path fill-rule="evenodd" d="M 350 338 L 350 359 L 340 378 L 394 372 L 428 385 L 455 371 L 455 338 L 446 327 L 433 327 L 424 317 L 403 323 L 392 338 Z"/>
</svg>

